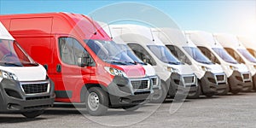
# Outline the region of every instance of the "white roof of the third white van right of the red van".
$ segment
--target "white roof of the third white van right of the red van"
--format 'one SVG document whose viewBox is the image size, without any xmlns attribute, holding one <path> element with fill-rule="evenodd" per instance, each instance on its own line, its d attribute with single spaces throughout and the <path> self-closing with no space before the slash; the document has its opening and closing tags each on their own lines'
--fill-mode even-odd
<svg viewBox="0 0 256 128">
<path fill-rule="evenodd" d="M 190 46 L 196 47 L 195 44 L 189 38 L 186 38 L 184 33 L 175 28 L 154 28 L 154 34 L 156 34 L 164 44 L 173 44 L 177 46 Z"/>
</svg>

